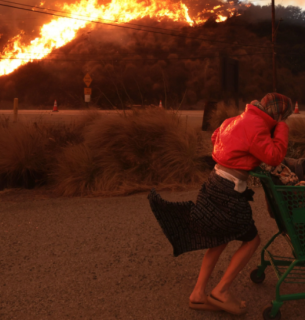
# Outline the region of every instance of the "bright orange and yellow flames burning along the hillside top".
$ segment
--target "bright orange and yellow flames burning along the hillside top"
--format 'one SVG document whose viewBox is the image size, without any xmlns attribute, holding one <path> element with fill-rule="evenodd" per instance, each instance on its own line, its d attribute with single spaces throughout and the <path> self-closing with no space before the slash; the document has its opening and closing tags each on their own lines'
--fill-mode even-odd
<svg viewBox="0 0 305 320">
<path fill-rule="evenodd" d="M 213 10 L 220 7 L 220 5 L 216 6 Z M 114 20 L 117 23 L 128 22 L 145 16 L 159 19 L 167 17 L 173 21 L 186 22 L 189 25 L 193 25 L 194 22 L 206 21 L 206 19 L 202 20 L 199 17 L 193 21 L 185 4 L 182 2 L 170 4 L 166 0 L 150 0 L 150 5 L 147 5 L 144 1 L 136 2 L 135 0 L 112 0 L 107 5 L 98 5 L 97 0 L 81 0 L 71 5 L 65 3 L 61 10 L 74 17 L 77 15 L 86 16 L 85 20 L 105 19 Z M 206 12 L 214 12 L 213 10 L 207 10 Z M 226 19 L 226 16 L 218 14 L 216 21 L 221 22 Z M 76 32 L 89 23 L 90 21 L 54 18 L 50 23 L 42 26 L 40 37 L 32 40 L 30 45 L 27 46 L 22 44 L 21 32 L 9 41 L 1 54 L 0 76 L 13 72 L 29 61 L 46 57 L 52 50 L 75 38 Z"/>
</svg>

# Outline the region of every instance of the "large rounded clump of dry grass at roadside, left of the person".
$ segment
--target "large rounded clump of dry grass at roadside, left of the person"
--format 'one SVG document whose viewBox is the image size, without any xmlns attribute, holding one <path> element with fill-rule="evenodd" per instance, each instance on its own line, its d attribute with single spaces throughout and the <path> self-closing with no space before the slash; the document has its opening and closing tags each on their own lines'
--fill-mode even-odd
<svg viewBox="0 0 305 320">
<path fill-rule="evenodd" d="M 99 118 L 86 127 L 84 138 L 58 159 L 53 177 L 60 195 L 177 189 L 206 177 L 196 132 L 185 132 L 173 113 L 149 109 Z"/>
</svg>

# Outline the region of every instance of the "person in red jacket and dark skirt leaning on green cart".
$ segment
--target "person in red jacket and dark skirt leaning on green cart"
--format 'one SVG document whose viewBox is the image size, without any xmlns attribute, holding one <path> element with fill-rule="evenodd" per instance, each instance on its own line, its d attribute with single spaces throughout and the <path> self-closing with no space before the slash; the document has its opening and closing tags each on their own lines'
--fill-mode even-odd
<svg viewBox="0 0 305 320">
<path fill-rule="evenodd" d="M 229 118 L 212 135 L 212 157 L 216 162 L 208 181 L 199 191 L 196 205 L 168 202 L 154 189 L 150 206 L 174 248 L 174 256 L 207 249 L 199 277 L 189 298 L 189 306 L 199 310 L 225 310 L 240 315 L 245 301 L 230 292 L 230 286 L 260 244 L 249 201 L 254 192 L 247 188 L 249 171 L 262 162 L 279 165 L 288 148 L 288 126 L 293 112 L 291 100 L 278 93 L 267 94 L 260 102 L 246 106 L 245 112 Z M 242 241 L 222 279 L 206 295 L 210 275 L 227 244 Z"/>
</svg>

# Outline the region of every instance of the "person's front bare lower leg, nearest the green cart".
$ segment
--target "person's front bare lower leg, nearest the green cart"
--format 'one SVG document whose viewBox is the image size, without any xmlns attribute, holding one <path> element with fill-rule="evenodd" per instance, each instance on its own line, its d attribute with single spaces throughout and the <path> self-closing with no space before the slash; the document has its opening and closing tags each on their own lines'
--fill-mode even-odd
<svg viewBox="0 0 305 320">
<path fill-rule="evenodd" d="M 244 242 L 235 252 L 231 262 L 218 285 L 212 290 L 211 294 L 222 302 L 230 298 L 230 286 L 239 272 L 246 266 L 255 250 L 260 244 L 260 238 L 257 235 L 252 241 Z"/>
</svg>

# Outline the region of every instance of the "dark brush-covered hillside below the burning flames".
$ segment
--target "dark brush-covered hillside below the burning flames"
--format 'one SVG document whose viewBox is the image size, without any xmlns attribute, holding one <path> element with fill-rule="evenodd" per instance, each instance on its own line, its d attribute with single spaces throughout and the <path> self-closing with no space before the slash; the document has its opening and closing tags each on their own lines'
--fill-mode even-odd
<svg viewBox="0 0 305 320">
<path fill-rule="evenodd" d="M 46 59 L 0 77 L 0 107 L 18 97 L 21 103 L 37 107 L 52 105 L 56 99 L 61 105 L 80 108 L 86 73 L 93 79 L 92 101 L 100 108 L 158 104 L 159 100 L 167 107 L 181 102 L 182 108 L 200 107 L 206 99 L 223 97 L 220 61 L 224 56 L 240 62 L 240 99 L 260 99 L 272 91 L 271 9 L 251 6 L 240 13 L 221 23 L 210 15 L 206 23 L 193 27 L 166 19 L 133 21 L 162 28 L 151 29 L 153 33 L 87 27 Z M 277 33 L 278 92 L 304 103 L 305 13 L 278 6 L 276 14 L 277 25 L 283 19 Z"/>
</svg>

